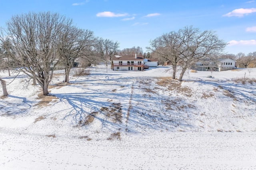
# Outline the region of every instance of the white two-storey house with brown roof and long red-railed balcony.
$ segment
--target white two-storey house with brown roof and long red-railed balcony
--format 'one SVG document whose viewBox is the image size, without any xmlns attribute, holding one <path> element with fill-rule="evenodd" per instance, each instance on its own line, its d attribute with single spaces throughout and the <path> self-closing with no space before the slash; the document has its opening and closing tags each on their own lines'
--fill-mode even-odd
<svg viewBox="0 0 256 170">
<path fill-rule="evenodd" d="M 149 67 L 156 67 L 157 61 L 144 59 L 142 55 L 116 55 L 112 59 L 113 70 L 117 71 L 143 71 Z"/>
</svg>

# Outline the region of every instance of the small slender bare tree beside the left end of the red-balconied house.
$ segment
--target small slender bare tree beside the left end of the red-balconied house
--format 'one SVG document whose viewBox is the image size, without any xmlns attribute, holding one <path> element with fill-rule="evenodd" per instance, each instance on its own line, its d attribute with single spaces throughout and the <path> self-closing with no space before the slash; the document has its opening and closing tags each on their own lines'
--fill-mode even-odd
<svg viewBox="0 0 256 170">
<path fill-rule="evenodd" d="M 108 72 L 108 61 L 111 61 L 111 56 L 114 55 L 114 53 L 119 48 L 119 43 L 116 41 L 110 40 L 110 39 L 98 39 L 97 44 L 97 51 L 99 51 L 100 56 L 102 59 L 106 62 L 107 72 Z"/>
</svg>

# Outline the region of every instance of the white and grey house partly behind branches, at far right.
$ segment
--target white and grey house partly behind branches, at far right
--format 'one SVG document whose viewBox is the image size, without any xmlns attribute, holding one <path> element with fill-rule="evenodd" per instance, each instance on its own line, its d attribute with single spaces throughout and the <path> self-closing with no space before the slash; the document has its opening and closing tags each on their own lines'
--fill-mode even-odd
<svg viewBox="0 0 256 170">
<path fill-rule="evenodd" d="M 232 59 L 216 59 L 216 61 L 197 62 L 191 69 L 197 71 L 225 71 L 235 68 L 236 61 Z"/>
</svg>

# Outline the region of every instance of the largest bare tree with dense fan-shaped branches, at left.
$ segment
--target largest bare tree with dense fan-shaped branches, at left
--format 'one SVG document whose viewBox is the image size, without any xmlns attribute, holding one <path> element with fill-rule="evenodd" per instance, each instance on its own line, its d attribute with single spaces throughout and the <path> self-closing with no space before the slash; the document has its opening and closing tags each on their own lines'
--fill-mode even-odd
<svg viewBox="0 0 256 170">
<path fill-rule="evenodd" d="M 30 12 L 12 16 L 6 22 L 6 29 L 0 35 L 10 39 L 17 55 L 9 55 L 20 63 L 20 70 L 30 78 L 35 78 L 42 87 L 43 95 L 48 95 L 48 85 L 52 80 L 53 70 L 58 63 L 56 55 L 60 33 L 65 25 L 72 22 L 64 16 L 51 12 Z M 2 29 L 3 30 L 3 29 Z M 55 63 L 51 68 L 51 63 Z"/>
</svg>

